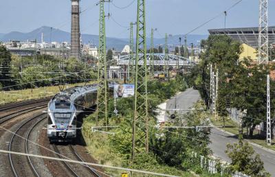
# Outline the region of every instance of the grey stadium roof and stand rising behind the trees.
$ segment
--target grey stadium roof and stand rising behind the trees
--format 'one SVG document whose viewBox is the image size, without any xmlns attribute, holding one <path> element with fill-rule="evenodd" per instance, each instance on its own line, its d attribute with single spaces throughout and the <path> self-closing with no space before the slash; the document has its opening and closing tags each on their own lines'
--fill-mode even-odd
<svg viewBox="0 0 275 177">
<path fill-rule="evenodd" d="M 250 45 L 253 48 L 258 48 L 258 40 L 259 40 L 259 27 L 240 27 L 240 28 L 223 28 L 223 29 L 208 29 L 209 34 L 212 35 L 221 35 L 226 34 L 233 38 L 234 40 L 238 40 L 241 43 L 245 43 Z M 275 26 L 269 27 L 268 32 L 269 43 L 275 43 Z"/>
</svg>

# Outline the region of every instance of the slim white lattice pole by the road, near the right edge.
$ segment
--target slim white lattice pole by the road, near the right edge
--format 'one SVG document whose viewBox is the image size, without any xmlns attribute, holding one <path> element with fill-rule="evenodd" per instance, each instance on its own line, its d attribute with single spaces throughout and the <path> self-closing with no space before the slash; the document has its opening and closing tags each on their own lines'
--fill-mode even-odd
<svg viewBox="0 0 275 177">
<path fill-rule="evenodd" d="M 270 75 L 267 75 L 267 145 L 271 145 L 271 119 L 270 119 Z"/>
</svg>

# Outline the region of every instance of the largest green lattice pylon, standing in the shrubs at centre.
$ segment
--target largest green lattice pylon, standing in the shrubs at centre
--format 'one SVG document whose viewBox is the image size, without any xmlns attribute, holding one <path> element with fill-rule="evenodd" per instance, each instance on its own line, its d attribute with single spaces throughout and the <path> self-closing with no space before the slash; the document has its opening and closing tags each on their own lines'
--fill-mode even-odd
<svg viewBox="0 0 275 177">
<path fill-rule="evenodd" d="M 135 54 L 135 104 L 133 113 L 132 159 L 135 159 L 136 143 L 144 142 L 145 152 L 148 145 L 148 97 L 147 97 L 147 58 L 146 58 L 146 23 L 145 0 L 137 0 L 137 36 Z M 141 55 L 139 55 L 141 54 Z M 139 66 L 138 62 L 144 64 Z M 138 101 L 138 102 L 137 102 Z M 142 123 L 140 123 L 142 122 Z M 142 133 L 142 139 L 136 139 L 136 134 Z M 139 148 L 140 149 L 140 148 Z"/>
</svg>

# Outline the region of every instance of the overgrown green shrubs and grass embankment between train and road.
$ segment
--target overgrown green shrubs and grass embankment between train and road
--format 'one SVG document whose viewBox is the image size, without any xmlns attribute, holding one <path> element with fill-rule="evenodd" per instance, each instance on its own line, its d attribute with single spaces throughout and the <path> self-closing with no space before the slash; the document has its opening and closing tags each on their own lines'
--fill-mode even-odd
<svg viewBox="0 0 275 177">
<path fill-rule="evenodd" d="M 87 143 L 87 149 L 99 163 L 131 167 L 135 169 L 145 169 L 153 172 L 174 174 L 178 176 L 190 176 L 188 169 L 197 170 L 199 164 L 192 164 L 190 152 L 197 151 L 201 155 L 208 155 L 210 150 L 208 134 L 196 132 L 195 130 L 175 130 L 157 128 L 156 113 L 157 105 L 169 99 L 179 91 L 185 91 L 187 84 L 183 78 L 177 78 L 170 82 L 153 81 L 148 83 L 149 101 L 149 132 L 150 132 L 150 153 L 138 153 L 135 161 L 131 161 L 131 139 L 132 139 L 132 119 L 133 119 L 133 97 L 118 99 L 118 115 L 113 114 L 113 100 L 109 102 L 109 125 L 119 126 L 111 130 L 114 134 L 102 134 L 91 132 L 91 126 L 95 126 L 94 116 L 90 115 L 84 123 L 83 134 Z M 200 104 L 200 106 L 202 106 Z M 203 106 L 202 106 L 203 107 Z M 206 119 L 201 113 L 190 113 L 188 115 L 178 115 L 180 119 L 187 119 L 188 125 L 195 125 L 198 119 Z M 199 117 L 199 118 L 196 118 Z M 99 125 L 104 125 L 100 120 Z M 169 124 L 168 124 L 169 125 Z M 170 125 L 174 125 L 173 122 Z M 201 141 L 194 141 L 194 139 Z M 142 134 L 137 130 L 137 139 L 142 139 Z M 141 152 L 142 143 L 137 143 L 137 149 Z M 108 171 L 111 174 L 118 172 Z"/>
</svg>

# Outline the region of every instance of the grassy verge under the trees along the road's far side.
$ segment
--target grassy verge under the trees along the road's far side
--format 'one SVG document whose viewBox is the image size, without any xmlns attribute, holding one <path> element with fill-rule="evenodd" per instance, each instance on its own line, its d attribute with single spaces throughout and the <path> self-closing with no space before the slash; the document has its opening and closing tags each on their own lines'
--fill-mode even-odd
<svg viewBox="0 0 275 177">
<path fill-rule="evenodd" d="M 214 119 L 214 117 L 210 117 L 211 122 L 213 123 L 214 126 L 223 126 L 223 119 L 221 117 L 219 117 L 217 120 Z M 230 119 L 229 117 L 225 117 L 225 128 L 221 128 L 227 132 L 230 132 L 232 134 L 239 134 L 239 125 L 238 123 L 235 123 L 234 121 L 232 121 L 232 119 Z M 259 134 L 257 134 L 258 132 L 256 132 L 256 130 L 254 130 L 254 136 L 252 138 L 248 137 L 248 131 L 243 128 L 243 138 L 247 139 L 249 141 L 251 141 L 252 143 L 256 143 L 258 145 L 262 145 L 263 147 L 266 147 L 270 150 L 275 150 L 275 144 L 273 143 L 273 145 L 267 145 L 266 144 L 266 140 L 265 138 L 259 136 Z"/>
</svg>

